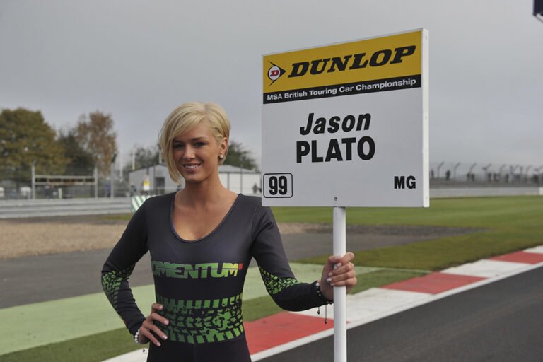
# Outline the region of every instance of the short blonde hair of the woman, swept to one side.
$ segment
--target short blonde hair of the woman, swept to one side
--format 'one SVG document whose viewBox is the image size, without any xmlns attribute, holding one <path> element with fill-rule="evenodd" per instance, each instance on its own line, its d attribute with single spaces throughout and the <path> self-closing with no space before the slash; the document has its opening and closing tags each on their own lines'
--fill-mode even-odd
<svg viewBox="0 0 543 362">
<path fill-rule="evenodd" d="M 223 108 L 216 103 L 188 102 L 175 108 L 165 119 L 160 129 L 160 152 L 168 166 L 168 172 L 174 182 L 181 182 L 181 175 L 173 160 L 173 139 L 188 132 L 201 122 L 208 122 L 218 144 L 226 138 L 227 148 L 223 158 L 218 159 L 222 165 L 228 153 L 228 137 L 230 136 L 230 121 Z"/>
</svg>

